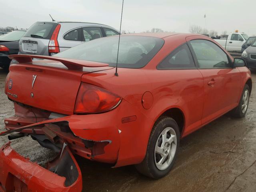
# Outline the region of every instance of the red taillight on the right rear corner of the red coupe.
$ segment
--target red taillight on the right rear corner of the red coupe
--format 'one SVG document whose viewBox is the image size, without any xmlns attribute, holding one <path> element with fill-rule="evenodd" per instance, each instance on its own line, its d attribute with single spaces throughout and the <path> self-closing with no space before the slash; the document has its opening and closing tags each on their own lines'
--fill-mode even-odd
<svg viewBox="0 0 256 192">
<path fill-rule="evenodd" d="M 81 83 L 75 113 L 101 113 L 114 109 L 121 98 L 95 85 Z"/>
</svg>

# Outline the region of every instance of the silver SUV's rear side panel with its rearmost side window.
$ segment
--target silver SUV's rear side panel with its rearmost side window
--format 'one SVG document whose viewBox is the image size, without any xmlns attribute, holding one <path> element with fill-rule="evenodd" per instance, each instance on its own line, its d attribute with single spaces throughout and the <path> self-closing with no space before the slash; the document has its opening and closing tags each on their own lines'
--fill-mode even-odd
<svg viewBox="0 0 256 192">
<path fill-rule="evenodd" d="M 59 42 L 60 52 L 82 43 L 81 30 L 81 28 L 75 28 L 64 34 L 63 40 Z"/>
</svg>

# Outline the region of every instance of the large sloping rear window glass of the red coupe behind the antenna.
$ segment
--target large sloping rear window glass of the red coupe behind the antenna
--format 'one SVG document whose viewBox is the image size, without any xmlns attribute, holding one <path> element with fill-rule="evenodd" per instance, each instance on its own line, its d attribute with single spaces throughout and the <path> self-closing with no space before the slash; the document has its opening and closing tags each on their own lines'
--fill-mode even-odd
<svg viewBox="0 0 256 192">
<path fill-rule="evenodd" d="M 116 66 L 119 36 L 99 38 L 60 52 L 54 56 L 107 63 Z M 164 40 L 146 36 L 121 36 L 118 67 L 141 68 L 163 46 Z"/>
</svg>

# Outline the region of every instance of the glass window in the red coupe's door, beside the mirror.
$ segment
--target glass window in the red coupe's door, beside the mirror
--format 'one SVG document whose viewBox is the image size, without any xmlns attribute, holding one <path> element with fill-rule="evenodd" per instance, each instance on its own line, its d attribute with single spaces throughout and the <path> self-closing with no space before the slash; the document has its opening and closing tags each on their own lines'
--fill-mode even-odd
<svg viewBox="0 0 256 192">
<path fill-rule="evenodd" d="M 226 53 L 208 40 L 192 40 L 190 44 L 196 54 L 200 68 L 228 68 L 231 63 Z"/>
</svg>

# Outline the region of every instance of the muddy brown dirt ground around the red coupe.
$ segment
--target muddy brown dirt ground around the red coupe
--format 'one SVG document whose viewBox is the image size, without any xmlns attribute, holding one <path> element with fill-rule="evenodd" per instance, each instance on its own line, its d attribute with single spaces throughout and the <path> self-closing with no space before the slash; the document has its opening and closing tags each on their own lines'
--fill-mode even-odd
<svg viewBox="0 0 256 192">
<path fill-rule="evenodd" d="M 4 118 L 14 113 L 4 94 L 6 73 L 0 70 L 0 131 Z M 190 134 L 180 144 L 180 152 L 168 176 L 152 180 L 133 166 L 110 168 L 106 164 L 76 157 L 86 192 L 255 192 L 256 191 L 256 72 L 245 118 L 228 115 Z M 0 137 L 0 146 L 7 137 Z M 12 147 L 36 162 L 50 158 L 51 152 L 30 137 L 16 139 Z M 43 158 L 42 158 L 43 157 Z"/>
</svg>

